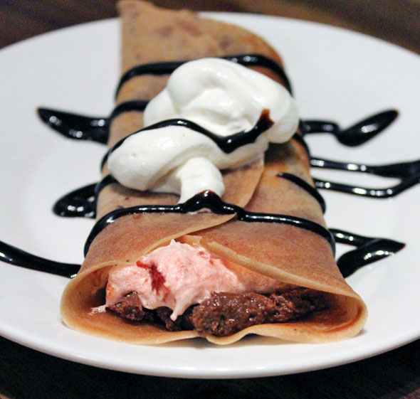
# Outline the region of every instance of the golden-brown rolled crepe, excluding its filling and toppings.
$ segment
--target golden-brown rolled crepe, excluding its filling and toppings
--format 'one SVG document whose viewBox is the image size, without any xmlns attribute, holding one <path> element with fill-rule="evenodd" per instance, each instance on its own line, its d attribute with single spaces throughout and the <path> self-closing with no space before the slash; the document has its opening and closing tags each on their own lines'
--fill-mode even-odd
<svg viewBox="0 0 420 399">
<path fill-rule="evenodd" d="M 135 65 L 208 56 L 258 53 L 281 63 L 261 38 L 243 28 L 200 18 L 190 11 L 157 9 L 143 1 L 120 1 L 122 73 Z M 263 73 L 271 72 L 261 69 Z M 276 78 L 271 75 L 271 78 Z M 117 102 L 147 100 L 163 89 L 167 76 L 142 75 L 122 86 Z M 142 112 L 125 112 L 111 125 L 109 145 L 142 128 Z M 258 213 L 278 213 L 325 226 L 320 204 L 300 186 L 278 176 L 294 174 L 313 185 L 308 154 L 290 140 L 271 144 L 264 164 L 223 171 L 223 200 Z M 104 174 L 107 173 L 106 166 Z M 98 218 L 116 208 L 174 205 L 178 196 L 135 191 L 113 183 L 100 192 Z M 288 341 L 325 342 L 355 336 L 364 325 L 364 302 L 345 282 L 330 243 L 317 233 L 283 223 L 248 223 L 214 213 L 140 213 L 107 225 L 93 240 L 78 275 L 65 288 L 61 314 L 65 324 L 88 334 L 135 344 L 161 344 L 198 336 L 196 331 L 166 331 L 132 323 L 111 312 L 92 312 L 103 304 L 107 274 L 113 265 L 130 265 L 154 248 L 177 239 L 206 248 L 217 257 L 280 282 L 325 292 L 328 307 L 283 324 L 251 326 L 224 337 L 230 344 L 246 334 Z"/>
</svg>

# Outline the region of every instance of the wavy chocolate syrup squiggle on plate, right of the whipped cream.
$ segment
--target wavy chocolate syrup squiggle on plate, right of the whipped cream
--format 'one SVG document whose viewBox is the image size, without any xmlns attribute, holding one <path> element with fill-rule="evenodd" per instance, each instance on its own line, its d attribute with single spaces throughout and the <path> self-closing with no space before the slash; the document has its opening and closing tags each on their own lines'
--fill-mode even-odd
<svg viewBox="0 0 420 399">
<path fill-rule="evenodd" d="M 387 110 L 379 112 L 363 119 L 360 122 L 341 129 L 337 123 L 321 120 L 307 119 L 300 124 L 301 132 L 305 134 L 329 133 L 345 146 L 357 147 L 365 142 L 373 139 L 377 134 L 386 129 L 397 118 L 396 110 Z"/>
</svg>

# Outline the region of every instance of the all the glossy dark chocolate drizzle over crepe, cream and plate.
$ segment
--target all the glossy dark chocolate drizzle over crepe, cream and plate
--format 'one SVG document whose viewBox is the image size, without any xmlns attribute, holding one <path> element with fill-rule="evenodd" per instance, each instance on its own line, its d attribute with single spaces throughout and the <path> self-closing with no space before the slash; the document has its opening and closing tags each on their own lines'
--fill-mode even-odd
<svg viewBox="0 0 420 399">
<path fill-rule="evenodd" d="M 283 68 L 281 68 L 280 65 L 275 63 L 275 61 L 271 60 L 270 58 L 253 54 L 235 55 L 224 58 L 236 63 L 240 63 L 242 65 L 262 66 L 264 68 L 271 69 L 280 77 L 281 80 L 283 80 L 285 87 L 288 88 L 288 90 L 291 92 L 290 82 L 287 75 L 285 75 Z M 122 85 L 124 85 L 127 80 L 130 80 L 135 76 L 143 74 L 164 75 L 167 73 L 172 73 L 174 69 L 176 69 L 179 65 L 182 65 L 184 62 L 185 61 L 138 65 L 137 67 L 132 68 L 132 70 L 127 71 L 127 73 L 122 76 L 122 79 L 120 80 L 120 83 L 117 87 L 116 95 Z M 85 117 L 83 115 L 75 115 L 70 112 L 50 110 L 46 108 L 38 109 L 38 115 L 41 117 L 43 122 L 46 122 L 53 129 L 56 129 L 56 131 L 60 132 L 65 137 L 72 139 L 90 140 L 105 144 L 109 134 L 110 123 L 114 117 L 117 117 L 117 115 L 120 115 L 122 112 L 142 112 L 145 110 L 146 105 L 147 100 L 123 102 L 120 105 L 117 105 L 109 117 Z M 369 139 L 375 137 L 379 132 L 389 126 L 389 124 L 394 121 L 397 115 L 397 111 L 387 110 L 380 112 L 377 115 L 368 117 L 367 119 L 364 119 L 347 129 L 340 129 L 338 124 L 335 122 L 312 119 L 302 120 L 300 121 L 301 134 L 295 134 L 293 139 L 298 141 L 305 148 L 305 150 L 308 151 L 308 154 L 308 146 L 305 144 L 305 141 L 302 137 L 305 134 L 332 134 L 342 144 L 354 147 L 363 144 Z M 261 122 L 267 125 L 271 123 L 271 120 L 268 118 L 268 115 L 266 116 L 266 119 Z M 179 119 L 175 120 L 177 120 L 177 122 L 174 122 L 174 124 L 187 127 L 193 126 L 192 122 L 179 121 Z M 163 123 L 167 123 L 167 121 Z M 265 126 L 264 128 L 268 129 L 268 127 Z M 156 126 L 148 127 L 147 129 L 152 128 L 156 128 Z M 198 125 L 195 125 L 194 129 L 199 129 L 198 131 L 201 130 L 201 132 L 206 134 L 208 137 L 214 139 L 216 143 L 216 140 L 220 139 L 211 132 L 204 132 L 204 129 Z M 233 135 L 233 137 L 229 137 L 229 140 L 222 142 L 219 147 L 224 147 L 227 149 L 226 152 L 228 152 L 230 150 L 233 151 L 238 147 L 238 145 L 246 144 L 243 143 L 244 132 L 240 132 L 238 134 L 239 135 L 236 137 L 234 137 L 235 135 Z M 255 141 L 256 137 L 258 137 L 258 134 L 261 134 L 261 132 L 259 132 L 258 129 L 254 129 L 253 134 L 256 136 L 251 139 L 251 142 Z M 397 193 L 400 193 L 406 188 L 409 188 L 417 183 L 419 181 L 419 162 L 420 161 L 405 162 L 401 164 L 367 166 L 362 164 L 345 164 L 336 161 L 329 161 L 326 159 L 318 159 L 315 157 L 311 158 L 311 165 L 315 167 L 359 171 L 362 173 L 377 174 L 377 176 L 398 177 L 402 180 L 399 185 L 391 188 L 391 191 L 389 191 L 389 188 L 386 188 L 382 190 L 384 191 L 384 194 L 379 193 L 379 190 L 377 193 L 375 193 L 375 195 L 373 195 L 373 191 L 369 188 L 355 188 L 352 186 L 341 185 L 340 183 L 331 183 L 327 181 L 321 181 L 320 179 L 315 179 L 315 186 L 317 188 L 339 189 L 340 191 L 357 193 L 359 195 L 369 195 L 370 193 L 370 195 L 377 197 L 384 197 L 385 195 L 397 195 Z M 320 203 L 322 210 L 325 210 L 325 201 L 323 200 L 322 196 L 317 193 L 315 188 L 310 186 L 302 179 L 299 179 L 298 176 L 292 174 L 280 174 L 279 176 L 283 179 L 292 181 L 310 193 L 310 195 L 313 196 L 318 201 L 318 203 Z M 54 211 L 61 216 L 83 216 L 94 218 L 96 198 L 98 198 L 98 193 L 103 187 L 110 183 L 115 183 L 115 179 L 109 175 L 98 184 L 90 184 L 83 188 L 79 188 L 78 190 L 72 191 L 57 201 L 56 205 L 54 206 Z M 369 193 L 361 194 L 362 190 Z M 345 275 L 345 277 L 352 274 L 352 272 L 355 272 L 355 270 L 357 270 L 359 267 L 367 265 L 370 262 L 374 262 L 375 260 L 379 260 L 382 257 L 391 255 L 392 253 L 401 250 L 401 248 L 404 248 L 404 244 L 397 243 L 396 241 L 388 240 L 385 238 L 364 237 L 362 235 L 347 233 L 343 230 L 337 229 L 327 230 L 321 225 L 313 223 L 310 220 L 276 214 L 251 213 L 238 206 L 225 203 L 221 200 L 221 198 L 219 198 L 219 196 L 216 196 L 216 194 L 205 191 L 204 193 L 194 196 L 186 203 L 177 204 L 176 206 L 137 206 L 132 208 L 117 209 L 111 213 L 108 213 L 95 224 L 92 232 L 88 237 L 88 240 L 86 241 L 85 252 L 87 252 L 89 245 L 95 235 L 97 235 L 103 228 L 105 228 L 106 225 L 113 223 L 117 218 L 122 216 L 132 213 L 189 213 L 200 211 L 204 208 L 210 209 L 213 213 L 216 214 L 235 214 L 238 220 L 246 222 L 288 223 L 300 228 L 306 228 L 326 238 L 332 245 L 332 248 L 335 246 L 335 240 L 337 240 L 338 243 L 353 245 L 357 248 L 355 250 L 346 252 L 337 261 L 340 270 L 342 271 L 343 275 Z M 46 271 L 58 275 L 65 275 L 66 277 L 73 277 L 75 272 L 77 272 L 78 268 L 80 267 L 80 265 L 53 262 L 41 257 L 36 257 L 35 255 L 28 254 L 27 252 L 23 252 L 11 245 L 2 242 L 0 242 L 0 258 L 5 262 L 11 263 L 12 265 L 20 265 L 35 270 Z"/>
</svg>

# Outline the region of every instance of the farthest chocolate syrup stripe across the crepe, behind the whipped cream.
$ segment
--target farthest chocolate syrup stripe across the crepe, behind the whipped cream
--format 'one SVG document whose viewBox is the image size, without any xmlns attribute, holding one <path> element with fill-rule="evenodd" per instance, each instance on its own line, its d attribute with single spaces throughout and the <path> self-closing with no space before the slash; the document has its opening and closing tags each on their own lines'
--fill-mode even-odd
<svg viewBox="0 0 420 399">
<path fill-rule="evenodd" d="M 292 93 L 292 86 L 290 85 L 290 80 L 288 75 L 285 74 L 283 68 L 272 60 L 264 55 L 260 54 L 239 54 L 239 55 L 229 55 L 227 57 L 219 57 L 223 60 L 232 61 L 233 63 L 238 63 L 241 65 L 245 65 L 248 67 L 251 66 L 258 66 L 263 68 L 270 69 L 273 73 L 278 75 L 278 77 L 283 81 L 285 88 Z M 189 62 L 188 60 L 185 61 L 169 61 L 166 63 L 149 63 L 149 64 L 142 64 L 137 65 L 122 75 L 120 78 L 120 83 L 117 85 L 117 90 L 115 90 L 115 97 L 117 97 L 118 93 L 121 90 L 121 87 L 130 79 L 135 78 L 136 76 L 140 75 L 168 75 L 174 70 L 176 70 L 179 66 L 184 63 Z"/>
</svg>

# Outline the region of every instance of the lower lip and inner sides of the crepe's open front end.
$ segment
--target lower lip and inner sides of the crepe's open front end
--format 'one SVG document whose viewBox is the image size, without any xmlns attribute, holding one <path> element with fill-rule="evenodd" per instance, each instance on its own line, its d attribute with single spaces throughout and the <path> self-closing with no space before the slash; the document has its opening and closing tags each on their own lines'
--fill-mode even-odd
<svg viewBox="0 0 420 399">
<path fill-rule="evenodd" d="M 61 299 L 61 315 L 66 326 L 85 334 L 128 344 L 167 344 L 199 336 L 196 331 L 167 331 L 163 327 L 151 324 L 125 321 L 110 312 L 105 311 L 101 314 L 92 312 L 93 307 L 102 304 L 100 289 L 105 287 L 107 270 L 112 265 L 115 265 L 115 262 L 96 265 L 91 270 L 80 273 L 67 285 Z M 326 292 L 329 309 L 314 312 L 295 322 L 258 324 L 229 336 L 201 338 L 221 346 L 233 344 L 250 334 L 300 343 L 325 343 L 350 339 L 362 330 L 367 318 L 367 307 L 359 295 L 350 287 L 349 289 L 345 294 Z"/>
</svg>

